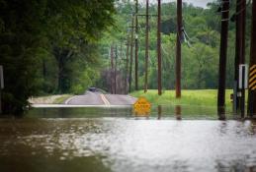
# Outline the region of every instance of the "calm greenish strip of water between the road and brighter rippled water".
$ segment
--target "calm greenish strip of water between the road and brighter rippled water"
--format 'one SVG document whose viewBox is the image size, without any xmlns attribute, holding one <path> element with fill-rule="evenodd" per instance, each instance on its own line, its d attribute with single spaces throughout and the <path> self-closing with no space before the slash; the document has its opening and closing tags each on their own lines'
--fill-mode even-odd
<svg viewBox="0 0 256 172">
<path fill-rule="evenodd" d="M 230 109 L 229 109 L 230 110 Z M 233 119 L 230 111 L 224 116 L 218 116 L 215 107 L 185 106 L 185 105 L 161 105 L 152 106 L 148 114 L 135 114 L 133 108 L 126 107 L 84 107 L 84 108 L 35 108 L 29 111 L 27 118 L 99 118 L 99 117 L 133 117 L 147 116 L 156 119 Z"/>
</svg>

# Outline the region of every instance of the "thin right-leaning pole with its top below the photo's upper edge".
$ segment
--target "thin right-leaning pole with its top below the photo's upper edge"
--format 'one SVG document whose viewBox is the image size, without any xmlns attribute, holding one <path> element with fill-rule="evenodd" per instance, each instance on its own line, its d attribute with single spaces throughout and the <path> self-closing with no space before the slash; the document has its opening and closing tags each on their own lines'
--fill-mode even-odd
<svg viewBox="0 0 256 172">
<path fill-rule="evenodd" d="M 131 17 L 131 36 L 130 36 L 130 59 L 129 59 L 129 77 L 128 77 L 128 92 L 131 92 L 131 73 L 132 73 L 132 63 L 133 63 L 133 27 L 134 27 L 134 18 L 133 14 Z"/>
</svg>

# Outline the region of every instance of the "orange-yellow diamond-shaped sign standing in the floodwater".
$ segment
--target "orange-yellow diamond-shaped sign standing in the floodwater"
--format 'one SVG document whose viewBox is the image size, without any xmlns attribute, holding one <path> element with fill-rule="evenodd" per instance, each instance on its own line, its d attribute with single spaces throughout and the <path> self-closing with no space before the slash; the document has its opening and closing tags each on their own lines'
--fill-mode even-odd
<svg viewBox="0 0 256 172">
<path fill-rule="evenodd" d="M 151 104 L 144 97 L 140 97 L 133 104 L 134 112 L 138 115 L 146 115 L 150 112 Z"/>
</svg>

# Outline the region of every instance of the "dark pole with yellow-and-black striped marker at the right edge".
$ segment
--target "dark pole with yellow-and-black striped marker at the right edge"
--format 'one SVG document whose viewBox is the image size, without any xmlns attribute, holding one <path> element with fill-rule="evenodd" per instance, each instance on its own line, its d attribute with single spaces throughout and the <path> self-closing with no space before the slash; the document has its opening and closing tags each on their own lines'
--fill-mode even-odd
<svg viewBox="0 0 256 172">
<path fill-rule="evenodd" d="M 256 1 L 252 1 L 251 54 L 249 74 L 248 114 L 256 115 Z"/>
</svg>

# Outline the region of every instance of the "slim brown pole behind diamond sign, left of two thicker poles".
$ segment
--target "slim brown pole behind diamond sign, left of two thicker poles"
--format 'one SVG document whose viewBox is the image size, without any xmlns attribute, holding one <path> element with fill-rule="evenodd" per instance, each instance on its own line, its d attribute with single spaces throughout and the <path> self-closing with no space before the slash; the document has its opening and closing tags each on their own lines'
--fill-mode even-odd
<svg viewBox="0 0 256 172">
<path fill-rule="evenodd" d="M 148 80 L 148 32 L 149 32 L 149 14 L 148 14 L 148 6 L 149 0 L 146 0 L 146 11 L 145 11 L 145 84 L 144 84 L 144 92 L 147 92 L 147 80 Z"/>
</svg>

